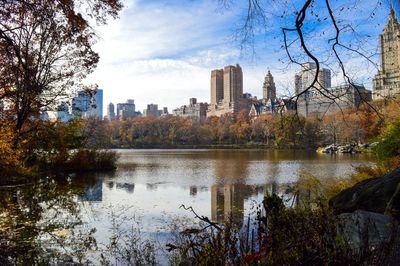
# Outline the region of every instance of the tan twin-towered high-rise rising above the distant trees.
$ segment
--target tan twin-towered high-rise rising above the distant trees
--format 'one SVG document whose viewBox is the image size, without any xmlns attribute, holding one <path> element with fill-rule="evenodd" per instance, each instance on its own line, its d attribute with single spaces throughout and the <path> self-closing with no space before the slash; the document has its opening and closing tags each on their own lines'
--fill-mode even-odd
<svg viewBox="0 0 400 266">
<path fill-rule="evenodd" d="M 250 109 L 250 103 L 243 96 L 243 72 L 238 64 L 211 71 L 211 101 L 207 116 L 237 114 L 242 109 Z"/>
</svg>

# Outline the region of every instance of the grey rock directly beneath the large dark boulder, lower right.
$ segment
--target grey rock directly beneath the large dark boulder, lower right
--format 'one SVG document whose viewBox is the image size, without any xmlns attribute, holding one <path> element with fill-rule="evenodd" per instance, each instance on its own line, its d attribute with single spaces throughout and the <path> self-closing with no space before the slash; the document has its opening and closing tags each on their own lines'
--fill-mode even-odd
<svg viewBox="0 0 400 266">
<path fill-rule="evenodd" d="M 397 223 L 380 213 L 357 210 L 338 215 L 338 233 L 353 249 L 378 248 L 392 240 Z"/>
</svg>

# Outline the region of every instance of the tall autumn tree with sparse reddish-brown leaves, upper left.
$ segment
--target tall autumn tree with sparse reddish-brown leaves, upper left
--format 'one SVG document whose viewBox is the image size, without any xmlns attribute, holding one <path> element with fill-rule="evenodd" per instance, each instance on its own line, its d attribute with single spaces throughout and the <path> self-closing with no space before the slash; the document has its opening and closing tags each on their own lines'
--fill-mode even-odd
<svg viewBox="0 0 400 266">
<path fill-rule="evenodd" d="M 13 143 L 37 130 L 39 113 L 54 106 L 96 67 L 96 34 L 119 0 L 4 0 L 0 3 L 0 100 Z M 86 87 L 90 89 L 89 87 Z"/>
</svg>

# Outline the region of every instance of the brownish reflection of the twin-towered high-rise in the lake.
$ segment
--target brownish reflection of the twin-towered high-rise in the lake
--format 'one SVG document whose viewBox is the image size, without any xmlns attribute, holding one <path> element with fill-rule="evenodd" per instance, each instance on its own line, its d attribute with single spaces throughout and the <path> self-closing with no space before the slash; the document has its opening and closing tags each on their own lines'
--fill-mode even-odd
<svg viewBox="0 0 400 266">
<path fill-rule="evenodd" d="M 244 200 L 256 192 L 249 185 L 213 185 L 211 186 L 211 220 L 223 223 L 232 218 L 242 224 L 244 218 Z"/>
</svg>

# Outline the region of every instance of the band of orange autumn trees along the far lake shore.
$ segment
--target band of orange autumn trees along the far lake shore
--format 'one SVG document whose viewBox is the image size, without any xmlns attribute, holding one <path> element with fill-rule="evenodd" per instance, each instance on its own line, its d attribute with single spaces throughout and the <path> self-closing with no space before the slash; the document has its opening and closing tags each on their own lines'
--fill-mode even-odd
<svg viewBox="0 0 400 266">
<path fill-rule="evenodd" d="M 87 120 L 89 146 L 102 148 L 275 147 L 314 149 L 327 144 L 374 141 L 399 117 L 399 101 L 376 102 L 322 118 L 295 113 L 257 118 L 241 111 L 236 117 L 205 121 L 178 116 L 138 117 L 123 121 Z"/>
</svg>

